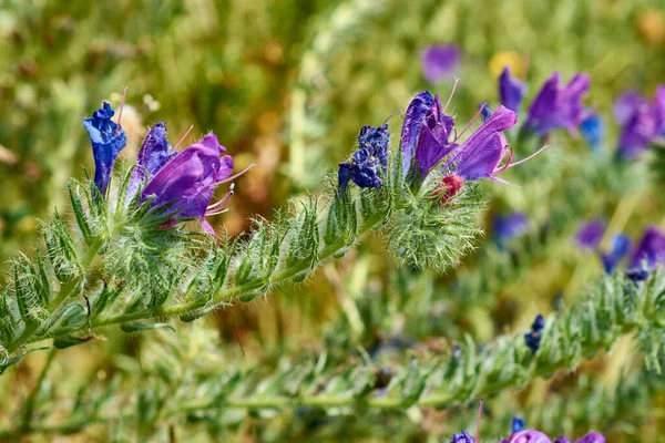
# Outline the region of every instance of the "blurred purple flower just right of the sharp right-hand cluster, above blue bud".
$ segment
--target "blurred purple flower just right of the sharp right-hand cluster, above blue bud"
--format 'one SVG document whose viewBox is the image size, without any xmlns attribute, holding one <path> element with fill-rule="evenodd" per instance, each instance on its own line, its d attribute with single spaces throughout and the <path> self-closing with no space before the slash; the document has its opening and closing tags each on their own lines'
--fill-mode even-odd
<svg viewBox="0 0 665 443">
<path fill-rule="evenodd" d="M 525 126 L 540 135 L 560 127 L 574 132 L 583 120 L 582 96 L 589 91 L 590 76 L 577 73 L 565 86 L 560 86 L 560 81 L 561 75 L 554 73 L 529 109 Z"/>
</svg>

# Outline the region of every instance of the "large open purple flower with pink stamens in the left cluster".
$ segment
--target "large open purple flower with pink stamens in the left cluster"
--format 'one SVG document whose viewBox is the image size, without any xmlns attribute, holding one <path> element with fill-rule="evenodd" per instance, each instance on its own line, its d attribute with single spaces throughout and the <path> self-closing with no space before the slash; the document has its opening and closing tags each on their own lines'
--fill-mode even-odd
<svg viewBox="0 0 665 443">
<path fill-rule="evenodd" d="M 153 134 L 155 140 L 160 140 L 157 134 L 158 131 Z M 166 145 L 157 143 L 152 146 L 156 151 L 161 151 Z M 171 204 L 172 206 L 168 206 L 167 210 L 173 214 L 173 223 L 182 218 L 198 218 L 203 228 L 214 234 L 213 227 L 205 220 L 205 216 L 224 212 L 233 194 L 229 190 L 219 202 L 209 205 L 215 188 L 235 177 L 231 176 L 233 171 L 231 155 L 221 157 L 221 154 L 225 152 L 226 148 L 219 144 L 216 135 L 206 135 L 200 142 L 183 150 L 150 177 L 141 192 L 140 204 L 151 197 L 151 207 L 158 208 Z M 163 159 L 161 155 L 153 155 L 154 153 L 147 147 L 144 154 L 140 162 L 144 161 L 146 168 L 157 165 L 158 158 Z"/>
</svg>

